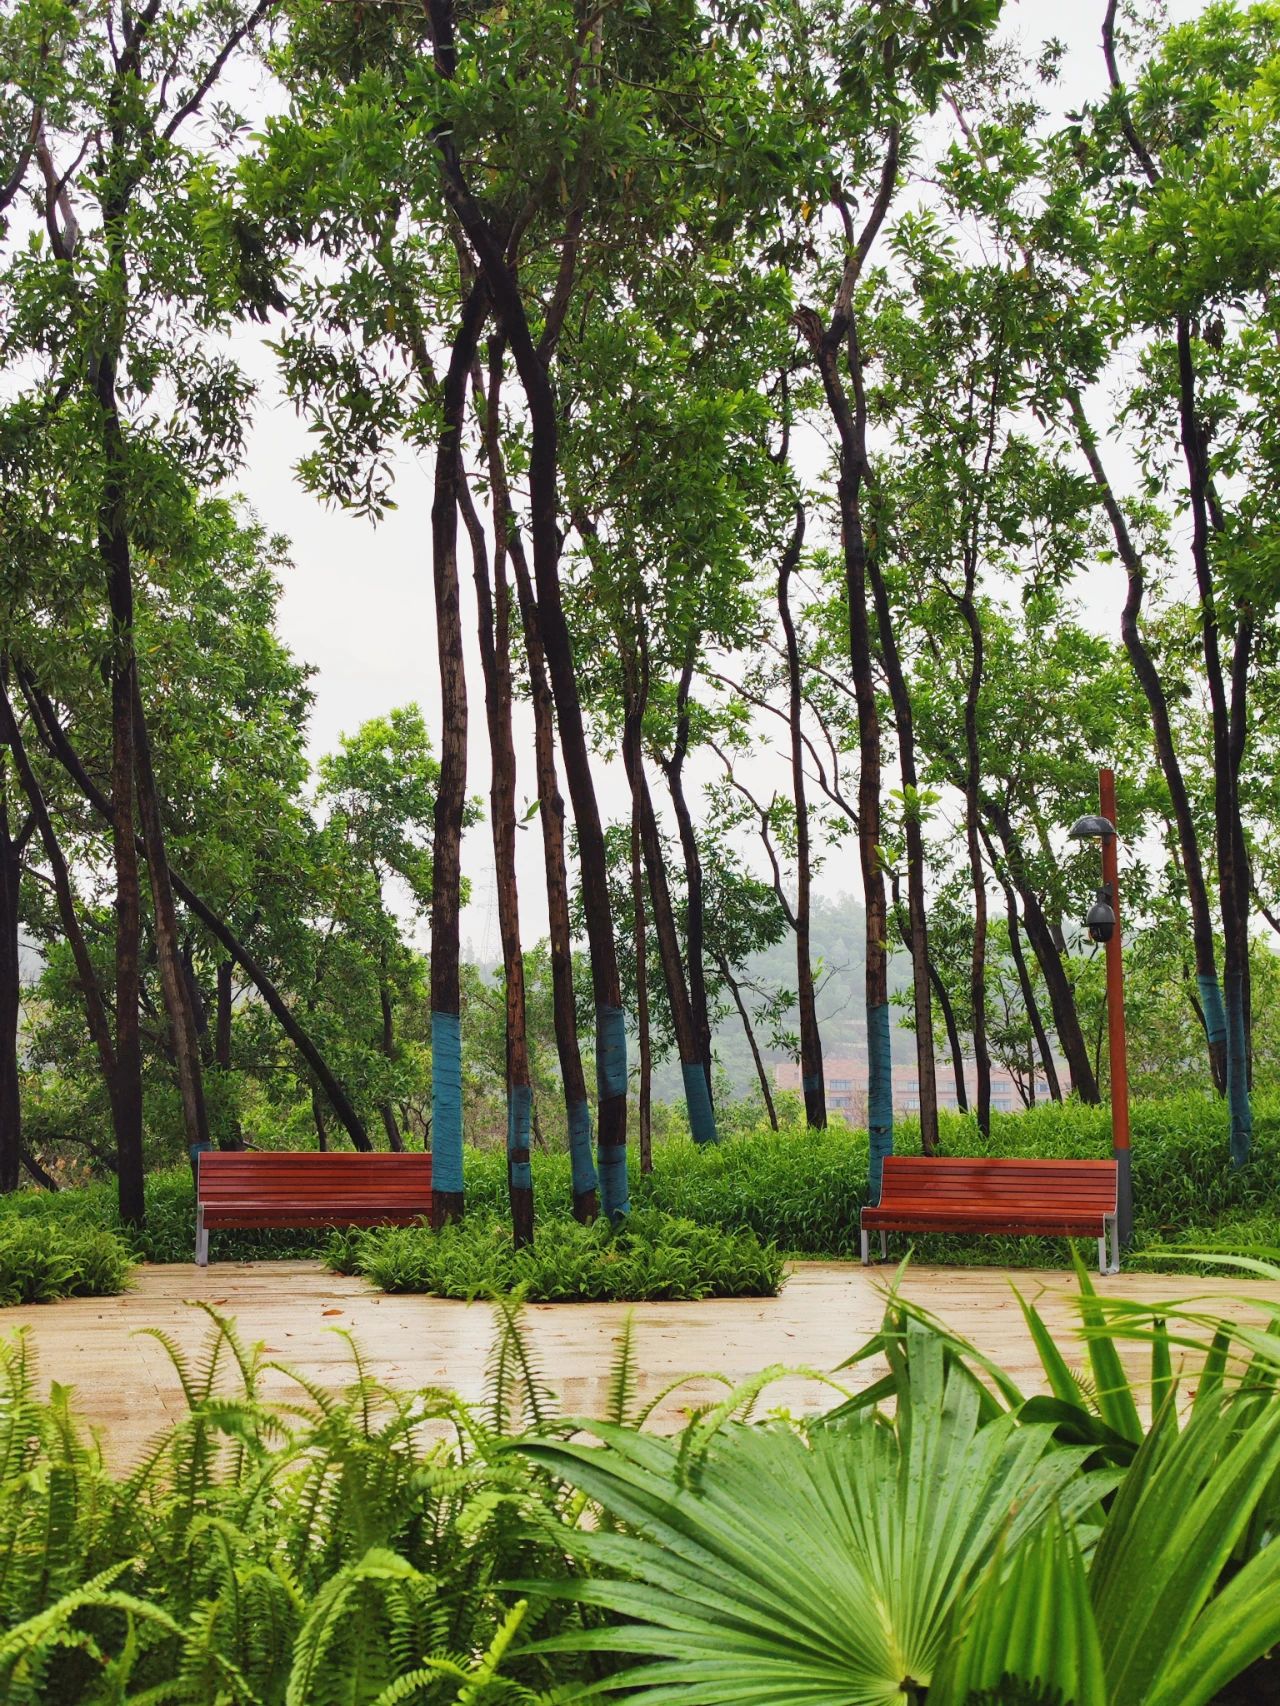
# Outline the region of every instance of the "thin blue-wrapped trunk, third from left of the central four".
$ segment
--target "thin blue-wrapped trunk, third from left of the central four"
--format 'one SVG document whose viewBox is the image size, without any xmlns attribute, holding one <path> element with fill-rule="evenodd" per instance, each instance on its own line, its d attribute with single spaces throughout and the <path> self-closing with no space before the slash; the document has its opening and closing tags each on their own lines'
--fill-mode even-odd
<svg viewBox="0 0 1280 1706">
<path fill-rule="evenodd" d="M 534 775 L 538 781 L 538 815 L 543 831 L 543 858 L 546 865 L 546 921 L 551 942 L 551 1013 L 556 1034 L 560 1080 L 565 1090 L 565 1116 L 568 1121 L 568 1155 L 573 1191 L 573 1218 L 584 1223 L 599 1213 L 596 1160 L 591 1145 L 591 1104 L 587 1078 L 582 1070 L 579 1042 L 577 1000 L 573 996 L 573 940 L 568 920 L 568 867 L 565 860 L 565 800 L 560 792 L 555 756 L 555 705 L 546 677 L 546 657 L 538 626 L 524 541 L 515 527 L 507 462 L 502 454 L 500 389 L 503 341 L 490 339 L 488 396 L 476 386 L 476 406 L 485 421 L 485 452 L 488 461 L 490 493 L 495 517 L 502 517 L 507 554 L 515 573 L 515 595 L 524 630 L 524 655 L 529 667 L 529 698 L 534 713 Z"/>
</svg>

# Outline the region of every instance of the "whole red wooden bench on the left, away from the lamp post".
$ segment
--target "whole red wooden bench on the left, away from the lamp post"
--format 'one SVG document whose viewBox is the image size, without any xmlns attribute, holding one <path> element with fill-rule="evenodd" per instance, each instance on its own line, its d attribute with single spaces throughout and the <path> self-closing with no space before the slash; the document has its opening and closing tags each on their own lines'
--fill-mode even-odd
<svg viewBox="0 0 1280 1706">
<path fill-rule="evenodd" d="M 196 1262 L 218 1227 L 411 1227 L 432 1210 L 430 1155 L 205 1150 L 196 1170 Z"/>
</svg>

